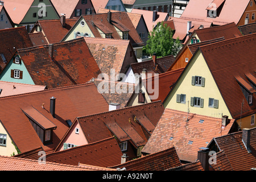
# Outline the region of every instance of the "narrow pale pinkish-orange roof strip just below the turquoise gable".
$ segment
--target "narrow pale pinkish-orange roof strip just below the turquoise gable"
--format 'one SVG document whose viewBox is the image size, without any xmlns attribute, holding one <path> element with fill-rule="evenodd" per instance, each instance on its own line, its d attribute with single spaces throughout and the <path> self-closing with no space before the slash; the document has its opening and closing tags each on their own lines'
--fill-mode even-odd
<svg viewBox="0 0 256 182">
<path fill-rule="evenodd" d="M 2 89 L 0 97 L 6 97 L 29 92 L 37 92 L 46 89 L 46 86 L 0 81 L 0 89 Z"/>
</svg>

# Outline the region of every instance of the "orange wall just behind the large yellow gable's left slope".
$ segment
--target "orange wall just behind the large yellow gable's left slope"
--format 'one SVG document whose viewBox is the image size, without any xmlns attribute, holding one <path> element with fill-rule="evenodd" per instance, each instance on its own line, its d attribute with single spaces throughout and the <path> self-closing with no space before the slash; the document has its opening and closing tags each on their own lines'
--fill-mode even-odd
<svg viewBox="0 0 256 182">
<path fill-rule="evenodd" d="M 175 69 L 179 69 L 179 68 L 184 68 L 188 62 L 186 62 L 186 57 L 188 58 L 188 61 L 191 59 L 192 57 L 192 53 L 189 50 L 189 48 L 186 46 L 184 48 L 184 51 L 179 55 L 179 57 L 176 58 L 175 63 L 172 64 L 171 66 L 171 70 L 175 70 Z"/>
</svg>

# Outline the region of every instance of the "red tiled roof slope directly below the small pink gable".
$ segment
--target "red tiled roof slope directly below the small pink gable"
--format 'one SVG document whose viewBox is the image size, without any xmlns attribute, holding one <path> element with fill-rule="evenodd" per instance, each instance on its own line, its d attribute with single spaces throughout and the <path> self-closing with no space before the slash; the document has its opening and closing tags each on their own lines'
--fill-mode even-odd
<svg viewBox="0 0 256 182">
<path fill-rule="evenodd" d="M 48 162 L 69 164 L 73 166 L 88 164 L 99 167 L 109 167 L 121 163 L 122 151 L 114 137 L 98 142 L 53 152 L 46 155 Z"/>
</svg>

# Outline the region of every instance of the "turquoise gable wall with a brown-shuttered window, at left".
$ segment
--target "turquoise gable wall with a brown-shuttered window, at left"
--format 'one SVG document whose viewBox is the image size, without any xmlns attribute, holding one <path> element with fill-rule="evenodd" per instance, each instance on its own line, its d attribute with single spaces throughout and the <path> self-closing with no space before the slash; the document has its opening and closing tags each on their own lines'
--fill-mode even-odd
<svg viewBox="0 0 256 182">
<path fill-rule="evenodd" d="M 13 63 L 13 59 L 9 61 L 9 64 L 6 65 L 5 69 L 3 69 L 2 73 L 0 74 L 1 81 L 9 81 L 9 82 L 16 82 L 20 84 L 31 84 L 35 85 L 34 81 L 32 80 L 30 74 L 27 71 L 23 61 L 20 61 L 20 64 Z M 11 69 L 18 69 L 23 72 L 23 78 L 11 78 Z"/>
</svg>

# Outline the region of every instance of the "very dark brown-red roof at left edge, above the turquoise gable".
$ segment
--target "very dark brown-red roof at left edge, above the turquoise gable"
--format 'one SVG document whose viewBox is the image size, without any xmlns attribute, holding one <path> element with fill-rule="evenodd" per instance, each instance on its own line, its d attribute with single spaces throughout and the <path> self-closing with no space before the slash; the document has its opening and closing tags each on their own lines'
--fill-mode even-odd
<svg viewBox="0 0 256 182">
<path fill-rule="evenodd" d="M 7 28 L 0 30 L 0 53 L 10 61 L 16 49 L 33 47 L 33 44 L 28 36 L 26 27 Z M 0 56 L 0 71 L 5 67 L 5 63 Z"/>
</svg>

